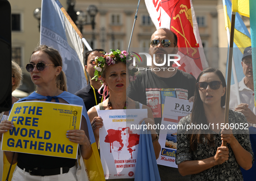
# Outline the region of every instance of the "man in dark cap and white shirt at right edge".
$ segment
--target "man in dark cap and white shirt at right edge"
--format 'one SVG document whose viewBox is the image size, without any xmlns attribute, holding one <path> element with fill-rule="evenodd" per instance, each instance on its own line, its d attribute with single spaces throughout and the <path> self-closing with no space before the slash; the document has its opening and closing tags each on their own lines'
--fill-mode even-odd
<svg viewBox="0 0 256 181">
<path fill-rule="evenodd" d="M 238 83 L 241 103 L 238 105 L 236 87 L 230 87 L 230 108 L 242 112 L 250 126 L 256 126 L 256 107 L 254 106 L 254 84 L 252 47 L 246 47 L 242 58 L 243 74 L 245 77 Z"/>
</svg>

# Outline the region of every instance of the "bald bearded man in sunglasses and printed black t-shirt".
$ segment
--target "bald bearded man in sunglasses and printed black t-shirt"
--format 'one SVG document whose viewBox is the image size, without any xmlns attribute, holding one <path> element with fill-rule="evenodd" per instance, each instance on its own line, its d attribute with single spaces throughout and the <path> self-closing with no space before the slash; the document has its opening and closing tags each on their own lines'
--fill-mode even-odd
<svg viewBox="0 0 256 181">
<path fill-rule="evenodd" d="M 143 70 L 127 89 L 128 97 L 152 109 L 156 125 L 161 124 L 166 96 L 185 100 L 194 96 L 196 81 L 194 76 L 173 68 L 172 65 L 168 66 L 167 57 L 165 57 L 167 54 L 178 52 L 177 43 L 177 36 L 169 29 L 161 28 L 155 31 L 151 36 L 149 54 L 152 58 L 155 54 L 157 64 L 166 60 L 165 65 L 155 66 L 152 63 L 152 66 Z M 157 130 L 158 133 L 159 131 Z M 181 176 L 176 168 L 164 165 L 158 165 L 158 168 L 162 181 L 186 181 L 190 178 L 189 175 Z"/>
</svg>

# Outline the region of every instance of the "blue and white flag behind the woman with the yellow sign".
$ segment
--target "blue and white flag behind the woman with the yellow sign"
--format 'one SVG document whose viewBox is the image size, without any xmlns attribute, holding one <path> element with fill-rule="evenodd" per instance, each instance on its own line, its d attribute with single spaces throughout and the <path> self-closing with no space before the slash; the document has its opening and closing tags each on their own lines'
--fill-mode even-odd
<svg viewBox="0 0 256 181">
<path fill-rule="evenodd" d="M 87 85 L 84 74 L 82 34 L 58 0 L 42 0 L 40 44 L 53 47 L 62 56 L 68 92 Z"/>
</svg>

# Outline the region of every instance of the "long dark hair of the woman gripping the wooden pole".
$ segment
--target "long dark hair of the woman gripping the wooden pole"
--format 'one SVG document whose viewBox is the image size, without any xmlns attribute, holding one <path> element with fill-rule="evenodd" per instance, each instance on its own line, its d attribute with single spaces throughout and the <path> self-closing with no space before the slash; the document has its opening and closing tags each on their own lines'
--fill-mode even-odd
<svg viewBox="0 0 256 181">
<path fill-rule="evenodd" d="M 226 81 L 225 81 L 225 78 L 224 78 L 222 72 L 220 72 L 220 70 L 214 69 L 214 68 L 208 68 L 208 69 L 203 70 L 198 75 L 196 82 L 199 82 L 202 75 L 204 75 L 205 73 L 211 73 L 211 72 L 215 73 L 220 78 L 222 86 L 226 87 Z M 226 102 L 226 92 L 225 92 L 224 96 L 221 97 L 220 106 L 221 107 L 225 106 L 225 102 Z M 194 91 L 194 104 L 193 104 L 193 108 L 192 108 L 192 112 L 191 112 L 191 123 L 193 123 L 194 125 L 201 125 L 201 124 L 208 125 L 209 124 L 208 120 L 206 118 L 205 112 L 204 112 L 203 101 L 201 100 L 197 86 L 195 86 L 195 91 Z M 207 132 L 207 130 L 195 129 L 195 130 L 193 130 L 193 132 L 188 132 L 188 133 L 191 133 L 191 134 L 188 134 L 188 139 L 190 140 L 190 147 L 189 147 L 190 152 L 197 150 L 198 143 L 203 142 L 203 139 L 202 139 L 203 137 L 205 137 L 205 139 L 207 140 L 208 145 L 214 146 L 213 135 L 210 134 L 209 132 Z"/>
</svg>

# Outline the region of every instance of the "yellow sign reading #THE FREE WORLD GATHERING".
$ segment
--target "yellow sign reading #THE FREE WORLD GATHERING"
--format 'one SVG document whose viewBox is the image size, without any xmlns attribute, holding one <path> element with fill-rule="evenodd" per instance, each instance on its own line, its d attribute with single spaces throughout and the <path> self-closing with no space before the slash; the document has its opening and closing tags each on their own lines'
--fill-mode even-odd
<svg viewBox="0 0 256 181">
<path fill-rule="evenodd" d="M 68 140 L 66 133 L 80 129 L 82 109 L 52 102 L 14 103 L 8 118 L 14 128 L 3 134 L 1 149 L 76 159 L 78 144 Z"/>
</svg>

